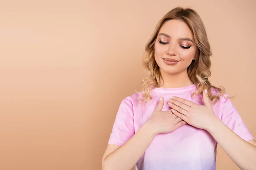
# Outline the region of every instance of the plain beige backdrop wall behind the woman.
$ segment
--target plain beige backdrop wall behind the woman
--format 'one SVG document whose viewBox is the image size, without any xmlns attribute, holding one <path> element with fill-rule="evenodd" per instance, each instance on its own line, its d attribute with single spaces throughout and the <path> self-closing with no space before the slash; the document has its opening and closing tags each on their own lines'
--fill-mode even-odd
<svg viewBox="0 0 256 170">
<path fill-rule="evenodd" d="M 176 6 L 198 11 L 210 80 L 256 137 L 255 0 L 1 0 L 0 169 L 100 170 L 119 104 L 145 77 L 144 46 Z M 239 169 L 220 147 L 217 169 Z"/>
</svg>

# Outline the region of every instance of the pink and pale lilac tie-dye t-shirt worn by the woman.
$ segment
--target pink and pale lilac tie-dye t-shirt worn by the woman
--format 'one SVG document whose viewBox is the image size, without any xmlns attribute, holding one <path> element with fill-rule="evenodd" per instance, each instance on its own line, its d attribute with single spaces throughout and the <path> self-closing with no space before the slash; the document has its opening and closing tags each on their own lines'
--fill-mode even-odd
<svg viewBox="0 0 256 170">
<path fill-rule="evenodd" d="M 125 144 L 149 119 L 160 96 L 165 100 L 162 111 L 170 109 L 168 99 L 172 96 L 202 105 L 201 95 L 196 96 L 198 99 L 191 96 L 194 91 L 195 85 L 154 88 L 151 90 L 152 100 L 145 105 L 137 100 L 141 92 L 126 97 L 119 106 L 108 144 Z M 212 89 L 212 93 L 215 92 Z M 253 139 L 230 99 L 221 97 L 213 109 L 215 115 L 242 139 Z M 209 132 L 186 124 L 171 133 L 158 134 L 137 162 L 136 170 L 215 170 L 216 146 Z"/>
</svg>

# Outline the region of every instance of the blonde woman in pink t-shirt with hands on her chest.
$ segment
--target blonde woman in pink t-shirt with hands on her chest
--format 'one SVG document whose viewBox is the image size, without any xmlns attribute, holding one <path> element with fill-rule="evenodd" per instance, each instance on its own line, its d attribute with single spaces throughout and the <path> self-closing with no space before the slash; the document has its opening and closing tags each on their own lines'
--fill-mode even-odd
<svg viewBox="0 0 256 170">
<path fill-rule="evenodd" d="M 212 86 L 204 24 L 191 8 L 174 8 L 145 47 L 149 76 L 121 102 L 104 170 L 215 170 L 216 146 L 242 169 L 256 169 L 256 141 L 229 96 Z"/>
</svg>

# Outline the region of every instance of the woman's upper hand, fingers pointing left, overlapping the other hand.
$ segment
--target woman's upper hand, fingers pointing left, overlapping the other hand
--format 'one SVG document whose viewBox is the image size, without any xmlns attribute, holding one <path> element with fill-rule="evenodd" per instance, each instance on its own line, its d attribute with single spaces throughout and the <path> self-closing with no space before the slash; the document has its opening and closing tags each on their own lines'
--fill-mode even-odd
<svg viewBox="0 0 256 170">
<path fill-rule="evenodd" d="M 173 114 L 183 119 L 189 125 L 209 130 L 209 128 L 212 128 L 217 117 L 214 114 L 207 91 L 203 92 L 203 98 L 204 105 L 198 105 L 175 96 L 169 99 L 168 105 L 175 110 Z"/>
</svg>

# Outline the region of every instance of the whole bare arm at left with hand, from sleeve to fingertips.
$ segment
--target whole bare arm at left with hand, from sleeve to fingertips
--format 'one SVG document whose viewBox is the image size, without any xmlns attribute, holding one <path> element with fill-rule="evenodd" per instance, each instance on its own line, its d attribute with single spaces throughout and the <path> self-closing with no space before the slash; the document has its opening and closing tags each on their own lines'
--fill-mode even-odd
<svg viewBox="0 0 256 170">
<path fill-rule="evenodd" d="M 186 124 L 172 113 L 162 111 L 164 99 L 160 100 L 150 119 L 119 147 L 109 144 L 102 158 L 103 170 L 131 170 L 158 133 L 169 133 Z"/>
</svg>

